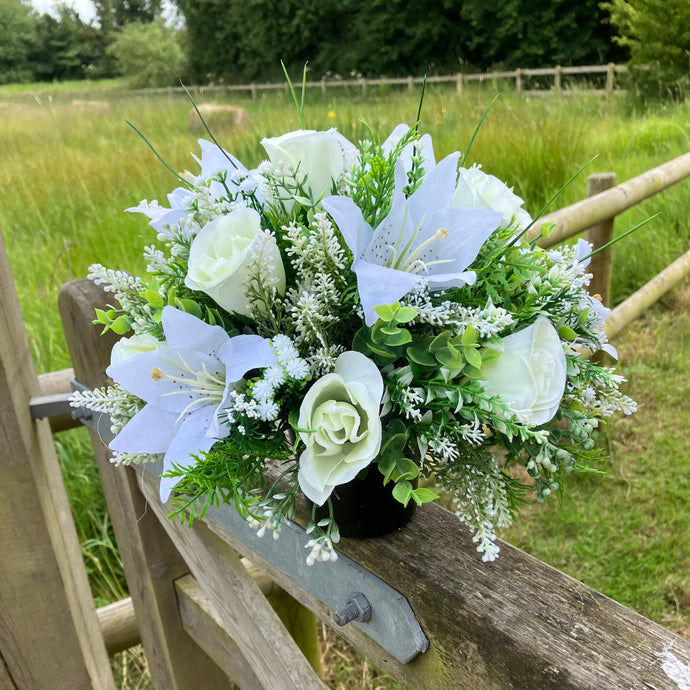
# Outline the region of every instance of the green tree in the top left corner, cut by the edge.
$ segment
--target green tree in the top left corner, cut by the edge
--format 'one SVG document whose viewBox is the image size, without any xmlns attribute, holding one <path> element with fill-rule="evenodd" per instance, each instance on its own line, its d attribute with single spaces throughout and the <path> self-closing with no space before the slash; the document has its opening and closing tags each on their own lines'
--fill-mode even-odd
<svg viewBox="0 0 690 690">
<path fill-rule="evenodd" d="M 23 0 L 0 0 L 0 84 L 33 78 L 29 61 L 36 16 Z"/>
</svg>

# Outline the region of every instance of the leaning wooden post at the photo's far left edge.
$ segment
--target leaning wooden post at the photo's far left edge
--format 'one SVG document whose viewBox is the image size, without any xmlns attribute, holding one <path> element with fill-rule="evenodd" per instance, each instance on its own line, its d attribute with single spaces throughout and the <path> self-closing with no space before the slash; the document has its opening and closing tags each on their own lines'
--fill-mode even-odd
<svg viewBox="0 0 690 690">
<path fill-rule="evenodd" d="M 0 236 L 0 685 L 114 689 Z"/>
</svg>

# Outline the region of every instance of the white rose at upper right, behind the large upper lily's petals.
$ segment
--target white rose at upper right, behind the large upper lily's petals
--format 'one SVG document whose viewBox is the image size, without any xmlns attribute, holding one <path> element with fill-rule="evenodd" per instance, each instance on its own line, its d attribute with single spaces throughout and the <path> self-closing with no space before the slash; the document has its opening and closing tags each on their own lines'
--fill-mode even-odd
<svg viewBox="0 0 690 690">
<path fill-rule="evenodd" d="M 460 168 L 451 208 L 483 208 L 503 214 L 503 225 L 515 220 L 516 229 L 524 230 L 532 218 L 520 208 L 525 202 L 513 190 L 493 175 L 481 171 L 481 166 Z"/>
</svg>

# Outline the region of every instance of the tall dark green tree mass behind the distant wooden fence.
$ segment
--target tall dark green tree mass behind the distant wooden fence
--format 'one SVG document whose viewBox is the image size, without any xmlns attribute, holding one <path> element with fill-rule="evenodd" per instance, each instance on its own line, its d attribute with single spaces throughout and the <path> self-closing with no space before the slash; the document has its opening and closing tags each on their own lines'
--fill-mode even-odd
<svg viewBox="0 0 690 690">
<path fill-rule="evenodd" d="M 597 0 L 179 0 L 196 81 L 452 74 L 620 59 Z M 409 118 L 408 118 L 409 119 Z"/>
</svg>

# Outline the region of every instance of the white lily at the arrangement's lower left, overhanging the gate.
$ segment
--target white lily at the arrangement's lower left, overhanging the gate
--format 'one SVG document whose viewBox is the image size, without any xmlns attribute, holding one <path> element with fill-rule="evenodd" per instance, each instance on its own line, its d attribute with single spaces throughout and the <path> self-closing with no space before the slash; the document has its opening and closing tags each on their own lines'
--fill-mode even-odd
<svg viewBox="0 0 690 690">
<path fill-rule="evenodd" d="M 251 369 L 271 366 L 275 351 L 258 335 L 230 338 L 174 307 L 163 309 L 166 341 L 150 352 L 111 364 L 106 373 L 146 402 L 111 441 L 121 453 L 164 453 L 164 471 L 190 467 L 193 456 L 228 435 L 220 413 L 234 384 Z M 163 477 L 160 496 L 168 500 L 179 480 Z"/>
</svg>

